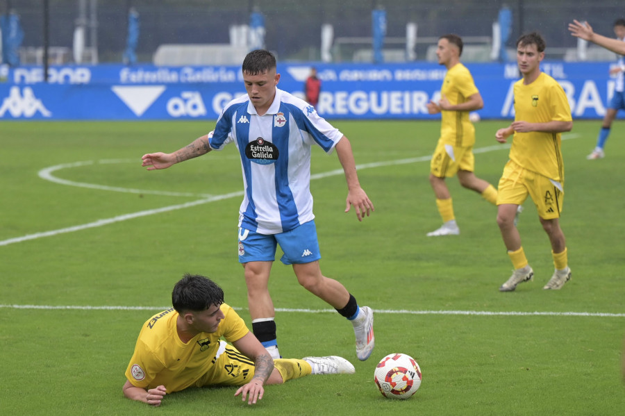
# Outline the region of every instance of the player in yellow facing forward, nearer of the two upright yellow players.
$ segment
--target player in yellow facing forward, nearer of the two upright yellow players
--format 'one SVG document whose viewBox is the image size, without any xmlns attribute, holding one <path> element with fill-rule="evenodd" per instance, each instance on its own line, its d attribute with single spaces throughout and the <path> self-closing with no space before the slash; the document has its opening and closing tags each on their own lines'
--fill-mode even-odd
<svg viewBox="0 0 625 416">
<path fill-rule="evenodd" d="M 515 271 L 501 285 L 501 292 L 515 290 L 517 284 L 532 280 L 534 274 L 514 225 L 517 206 L 528 195 L 534 201 L 540 224 L 549 236 L 556 266 L 543 289 L 560 289 L 571 278 L 565 235 L 558 219 L 564 199 L 560 136 L 563 131 L 571 131 L 573 120 L 560 84 L 540 71 L 544 48 L 544 40 L 538 33 L 529 33 L 517 40 L 517 65 L 523 78 L 514 85 L 515 121 L 495 134 L 500 143 L 505 143 L 508 136 L 514 134 L 510 160 L 499 180 L 497 224 Z"/>
</svg>

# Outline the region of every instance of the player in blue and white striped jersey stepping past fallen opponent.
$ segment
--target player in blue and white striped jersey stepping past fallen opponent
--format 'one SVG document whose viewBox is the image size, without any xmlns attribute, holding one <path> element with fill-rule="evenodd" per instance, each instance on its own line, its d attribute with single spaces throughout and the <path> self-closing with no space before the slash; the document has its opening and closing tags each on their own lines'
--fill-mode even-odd
<svg viewBox="0 0 625 416">
<path fill-rule="evenodd" d="M 251 51 L 242 65 L 247 95 L 224 107 L 215 130 L 174 153 L 148 153 L 148 170 L 221 150 L 234 143 L 243 172 L 244 197 L 239 210 L 238 254 L 244 267 L 249 313 L 254 335 L 272 357 L 279 358 L 275 310 L 269 294 L 269 274 L 280 244 L 285 265 L 292 265 L 299 283 L 351 321 L 356 355 L 366 360 L 374 348 L 373 311 L 360 308 L 340 282 L 319 267 L 319 244 L 310 194 L 313 146 L 336 150 L 347 181 L 345 212 L 351 206 L 362 221 L 374 210 L 360 187 L 349 140 L 313 106 L 277 88 L 276 58 L 265 50 Z M 217 180 L 217 178 L 212 178 Z"/>
</svg>

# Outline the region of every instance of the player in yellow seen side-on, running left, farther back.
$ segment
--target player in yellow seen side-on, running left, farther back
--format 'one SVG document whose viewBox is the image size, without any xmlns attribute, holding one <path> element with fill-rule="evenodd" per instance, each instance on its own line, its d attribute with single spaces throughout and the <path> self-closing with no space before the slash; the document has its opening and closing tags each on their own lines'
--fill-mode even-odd
<svg viewBox="0 0 625 416">
<path fill-rule="evenodd" d="M 460 234 L 445 178 L 456 175 L 463 187 L 478 192 L 493 205 L 497 201 L 494 186 L 473 172 L 475 128 L 469 121 L 469 111 L 479 110 L 484 102 L 469 69 L 460 63 L 461 54 L 460 36 L 449 34 L 439 38 L 436 56 L 438 63 L 447 67 L 447 74 L 440 89 L 440 101 L 431 101 L 427 107 L 430 114 L 442 113 L 440 138 L 430 163 L 430 184 L 443 224 L 428 233 L 428 237 Z"/>
</svg>

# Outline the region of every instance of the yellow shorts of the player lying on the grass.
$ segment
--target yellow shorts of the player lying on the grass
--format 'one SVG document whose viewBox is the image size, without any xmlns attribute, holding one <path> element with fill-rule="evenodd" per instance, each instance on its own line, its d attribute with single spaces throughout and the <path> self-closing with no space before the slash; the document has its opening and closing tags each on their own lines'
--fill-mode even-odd
<svg viewBox="0 0 625 416">
<path fill-rule="evenodd" d="M 244 385 L 254 376 L 254 363 L 235 347 L 226 344 L 226 349 L 215 358 L 212 367 L 200 378 L 197 387 L 208 385 Z"/>
</svg>

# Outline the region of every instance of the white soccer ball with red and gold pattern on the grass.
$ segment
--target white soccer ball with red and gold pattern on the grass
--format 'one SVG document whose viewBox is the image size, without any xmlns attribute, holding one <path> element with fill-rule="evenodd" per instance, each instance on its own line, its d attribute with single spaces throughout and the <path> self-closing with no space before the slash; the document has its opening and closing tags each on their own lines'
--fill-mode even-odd
<svg viewBox="0 0 625 416">
<path fill-rule="evenodd" d="M 374 380 L 384 397 L 408 399 L 419 390 L 421 369 L 411 356 L 388 354 L 376 367 Z"/>
</svg>

